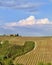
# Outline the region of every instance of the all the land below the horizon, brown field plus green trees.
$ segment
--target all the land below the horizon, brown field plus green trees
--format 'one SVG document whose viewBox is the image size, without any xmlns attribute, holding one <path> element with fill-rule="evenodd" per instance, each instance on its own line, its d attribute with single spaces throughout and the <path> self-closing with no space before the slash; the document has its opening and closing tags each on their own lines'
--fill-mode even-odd
<svg viewBox="0 0 52 65">
<path fill-rule="evenodd" d="M 52 64 L 52 37 L 0 36 L 1 41 L 0 62 L 5 65 Z"/>
</svg>

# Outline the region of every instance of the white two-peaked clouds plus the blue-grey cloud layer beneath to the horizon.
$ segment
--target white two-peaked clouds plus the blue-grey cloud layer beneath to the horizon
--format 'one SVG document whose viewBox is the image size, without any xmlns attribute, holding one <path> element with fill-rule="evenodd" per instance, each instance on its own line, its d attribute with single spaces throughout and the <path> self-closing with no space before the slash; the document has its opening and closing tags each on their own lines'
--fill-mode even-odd
<svg viewBox="0 0 52 65">
<path fill-rule="evenodd" d="M 48 18 L 36 19 L 29 16 L 17 22 L 0 25 L 0 30 L 4 30 L 5 33 L 19 32 L 21 35 L 52 35 L 52 22 Z"/>
</svg>

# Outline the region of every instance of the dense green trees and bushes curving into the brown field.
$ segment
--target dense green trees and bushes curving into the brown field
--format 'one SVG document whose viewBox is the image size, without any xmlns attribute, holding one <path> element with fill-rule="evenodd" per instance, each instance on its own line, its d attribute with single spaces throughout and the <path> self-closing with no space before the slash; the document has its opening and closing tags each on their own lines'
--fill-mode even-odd
<svg viewBox="0 0 52 65">
<path fill-rule="evenodd" d="M 0 62 L 4 65 L 13 65 L 13 60 L 30 52 L 35 46 L 33 41 L 26 41 L 23 46 L 10 44 L 9 41 L 0 41 Z M 21 65 L 21 64 L 17 64 Z"/>
</svg>

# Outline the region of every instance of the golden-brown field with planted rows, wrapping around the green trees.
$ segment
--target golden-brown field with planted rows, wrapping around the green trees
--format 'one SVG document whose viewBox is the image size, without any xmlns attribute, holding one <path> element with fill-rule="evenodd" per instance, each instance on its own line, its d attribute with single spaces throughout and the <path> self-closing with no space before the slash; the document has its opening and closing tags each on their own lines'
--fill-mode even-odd
<svg viewBox="0 0 52 65">
<path fill-rule="evenodd" d="M 35 48 L 13 61 L 14 64 L 38 65 L 39 62 L 52 63 L 52 37 L 0 37 L 0 41 L 8 40 L 10 44 L 23 46 L 25 41 L 35 42 Z"/>
</svg>

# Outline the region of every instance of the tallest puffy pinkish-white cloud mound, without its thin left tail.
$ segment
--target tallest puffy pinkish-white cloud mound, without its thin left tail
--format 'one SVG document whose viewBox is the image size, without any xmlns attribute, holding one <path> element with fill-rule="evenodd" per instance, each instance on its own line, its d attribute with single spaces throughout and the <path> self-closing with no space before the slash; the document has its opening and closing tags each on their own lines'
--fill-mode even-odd
<svg viewBox="0 0 52 65">
<path fill-rule="evenodd" d="M 26 25 L 34 25 L 34 24 L 35 24 L 34 16 L 30 16 L 27 19 L 23 19 L 18 22 L 18 26 L 26 26 Z"/>
</svg>

